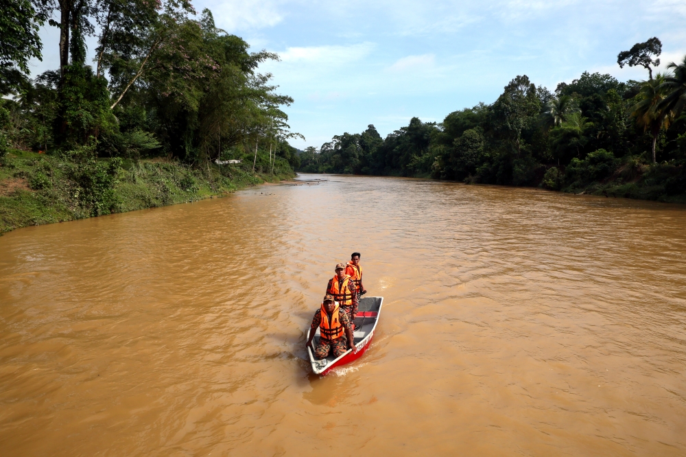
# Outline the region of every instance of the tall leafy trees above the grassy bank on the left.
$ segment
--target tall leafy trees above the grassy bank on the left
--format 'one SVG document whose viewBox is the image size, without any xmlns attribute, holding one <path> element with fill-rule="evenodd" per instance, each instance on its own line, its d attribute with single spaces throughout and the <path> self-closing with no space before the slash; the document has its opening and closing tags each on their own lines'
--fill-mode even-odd
<svg viewBox="0 0 686 457">
<path fill-rule="evenodd" d="M 248 156 L 259 167 L 277 157 L 298 163 L 287 145 L 283 106 L 293 102 L 259 65 L 279 56 L 250 51 L 196 16 L 188 0 L 10 0 L 0 19 L 3 129 L 16 148 L 71 150 L 96 145 L 101 156 L 163 155 L 200 166 Z M 38 25 L 48 17 L 60 41 L 43 49 Z M 86 37 L 95 60 L 86 62 Z M 28 80 L 27 60 L 53 51 L 60 67 Z M 14 113 L 14 114 L 12 114 Z M 268 154 L 268 164 L 257 156 Z M 280 160 L 281 160 L 280 159 Z"/>
</svg>

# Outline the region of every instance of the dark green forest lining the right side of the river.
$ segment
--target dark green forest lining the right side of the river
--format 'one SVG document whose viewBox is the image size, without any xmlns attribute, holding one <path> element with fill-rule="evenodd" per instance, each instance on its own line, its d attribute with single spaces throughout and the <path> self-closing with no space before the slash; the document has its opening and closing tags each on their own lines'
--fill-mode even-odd
<svg viewBox="0 0 686 457">
<path fill-rule="evenodd" d="M 686 58 L 653 75 L 658 38 L 617 57 L 645 81 L 584 72 L 554 93 L 517 76 L 493 104 L 414 117 L 383 139 L 373 125 L 300 154 L 300 171 L 431 176 L 465 183 L 541 186 L 685 201 Z"/>
</svg>

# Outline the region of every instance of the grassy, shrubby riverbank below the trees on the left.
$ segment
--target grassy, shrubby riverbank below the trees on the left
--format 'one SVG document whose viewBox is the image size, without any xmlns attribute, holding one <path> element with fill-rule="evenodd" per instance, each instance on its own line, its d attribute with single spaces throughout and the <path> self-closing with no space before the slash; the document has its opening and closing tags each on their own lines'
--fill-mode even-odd
<svg viewBox="0 0 686 457">
<path fill-rule="evenodd" d="M 293 178 L 252 173 L 248 165 L 197 169 L 165 159 L 82 159 L 12 150 L 0 162 L 0 234 L 110 213 L 223 196 Z"/>
</svg>

